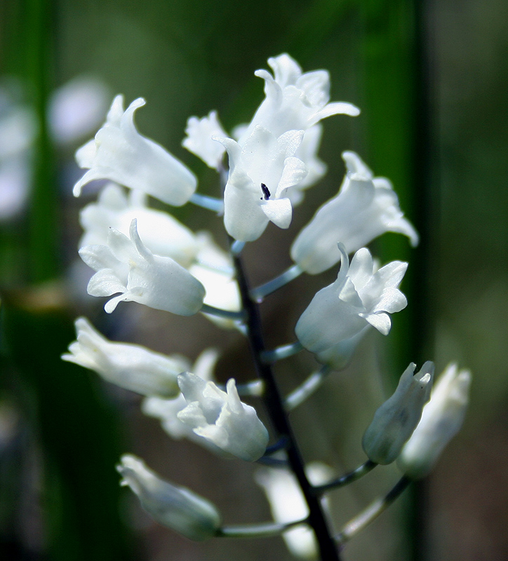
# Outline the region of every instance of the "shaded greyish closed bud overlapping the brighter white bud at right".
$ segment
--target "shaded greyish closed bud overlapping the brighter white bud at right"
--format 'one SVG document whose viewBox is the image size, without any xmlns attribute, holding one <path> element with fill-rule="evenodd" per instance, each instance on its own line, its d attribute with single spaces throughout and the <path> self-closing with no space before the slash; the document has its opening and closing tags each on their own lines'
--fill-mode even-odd
<svg viewBox="0 0 508 561">
<path fill-rule="evenodd" d="M 362 446 L 376 464 L 391 464 L 413 434 L 430 398 L 434 363 L 425 363 L 415 374 L 415 363 L 404 370 L 394 394 L 377 409 L 363 434 Z"/>
</svg>

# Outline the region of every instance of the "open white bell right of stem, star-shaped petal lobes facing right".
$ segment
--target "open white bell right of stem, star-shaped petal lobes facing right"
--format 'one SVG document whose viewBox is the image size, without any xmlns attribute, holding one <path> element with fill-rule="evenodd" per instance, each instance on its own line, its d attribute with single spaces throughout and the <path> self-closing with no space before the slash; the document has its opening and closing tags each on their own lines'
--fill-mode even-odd
<svg viewBox="0 0 508 561">
<path fill-rule="evenodd" d="M 392 326 L 388 313 L 407 305 L 397 288 L 407 263 L 393 261 L 375 272 L 367 248 L 356 252 L 350 266 L 342 244 L 339 250 L 342 264 L 337 280 L 316 293 L 295 327 L 302 345 L 313 353 L 354 337 L 369 324 L 387 335 Z"/>
</svg>

